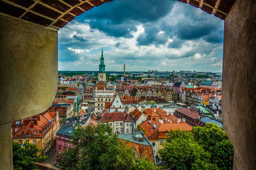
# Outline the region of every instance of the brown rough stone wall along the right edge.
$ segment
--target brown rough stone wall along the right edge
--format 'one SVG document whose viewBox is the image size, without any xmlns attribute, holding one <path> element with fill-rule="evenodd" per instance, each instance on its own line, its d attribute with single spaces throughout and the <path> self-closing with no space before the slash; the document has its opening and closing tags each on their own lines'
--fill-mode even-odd
<svg viewBox="0 0 256 170">
<path fill-rule="evenodd" d="M 225 19 L 223 124 L 234 169 L 256 167 L 256 1 L 237 0 Z"/>
</svg>

